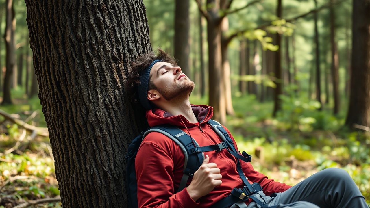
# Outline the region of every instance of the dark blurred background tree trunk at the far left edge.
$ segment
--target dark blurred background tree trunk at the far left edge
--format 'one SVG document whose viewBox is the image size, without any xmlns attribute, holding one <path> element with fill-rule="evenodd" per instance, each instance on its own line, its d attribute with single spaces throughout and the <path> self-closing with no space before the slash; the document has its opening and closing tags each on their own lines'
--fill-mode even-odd
<svg viewBox="0 0 370 208">
<path fill-rule="evenodd" d="M 1 104 L 12 104 L 10 96 L 11 79 L 15 67 L 14 58 L 14 26 L 15 14 L 13 0 L 6 1 L 6 30 L 5 30 L 5 46 L 6 46 L 6 72 L 4 76 L 3 87 L 3 102 Z"/>
</svg>

